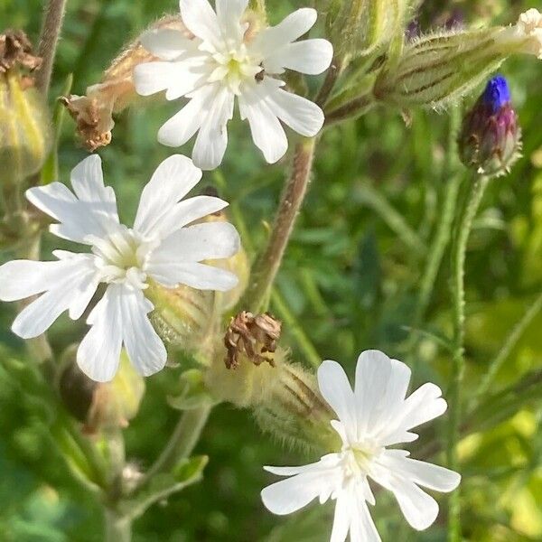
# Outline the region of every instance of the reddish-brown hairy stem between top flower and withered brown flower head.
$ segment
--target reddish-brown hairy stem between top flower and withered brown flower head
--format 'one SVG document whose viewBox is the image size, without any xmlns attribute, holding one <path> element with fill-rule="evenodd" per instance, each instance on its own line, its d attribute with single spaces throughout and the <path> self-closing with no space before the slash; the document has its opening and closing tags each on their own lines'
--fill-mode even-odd
<svg viewBox="0 0 542 542">
<path fill-rule="evenodd" d="M 316 140 L 312 138 L 304 139 L 295 147 L 294 166 L 285 184 L 271 236 L 265 252 L 252 270 L 252 281 L 242 301 L 242 306 L 253 313 L 261 311 L 275 282 L 311 180 L 315 145 Z"/>
</svg>

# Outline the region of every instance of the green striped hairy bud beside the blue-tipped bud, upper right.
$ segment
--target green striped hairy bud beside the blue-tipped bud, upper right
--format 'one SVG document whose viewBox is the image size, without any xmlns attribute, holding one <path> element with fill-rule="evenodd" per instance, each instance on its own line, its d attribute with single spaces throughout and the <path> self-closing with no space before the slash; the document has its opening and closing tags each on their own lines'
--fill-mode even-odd
<svg viewBox="0 0 542 542">
<path fill-rule="evenodd" d="M 374 95 L 399 107 L 444 107 L 471 92 L 509 55 L 542 58 L 541 21 L 537 10 L 529 10 L 515 26 L 454 29 L 407 43 L 397 63 L 381 71 Z"/>
</svg>

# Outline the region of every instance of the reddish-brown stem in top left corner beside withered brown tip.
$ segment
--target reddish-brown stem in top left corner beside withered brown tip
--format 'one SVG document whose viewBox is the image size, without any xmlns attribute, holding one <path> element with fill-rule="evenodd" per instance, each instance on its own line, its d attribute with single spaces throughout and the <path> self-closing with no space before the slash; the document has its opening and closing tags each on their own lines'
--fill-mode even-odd
<svg viewBox="0 0 542 542">
<path fill-rule="evenodd" d="M 61 35 L 62 19 L 67 0 L 49 0 L 45 7 L 42 34 L 38 55 L 42 57 L 42 67 L 36 76 L 36 87 L 46 96 L 51 83 L 52 64 L 56 55 L 57 43 Z"/>
</svg>

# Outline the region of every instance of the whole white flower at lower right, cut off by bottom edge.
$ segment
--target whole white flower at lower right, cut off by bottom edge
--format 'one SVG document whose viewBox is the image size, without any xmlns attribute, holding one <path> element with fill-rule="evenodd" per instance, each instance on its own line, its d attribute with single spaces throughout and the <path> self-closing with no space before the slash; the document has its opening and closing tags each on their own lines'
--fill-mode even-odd
<svg viewBox="0 0 542 542">
<path fill-rule="evenodd" d="M 331 498 L 336 500 L 332 542 L 342 542 L 349 531 L 353 542 L 378 541 L 367 506 L 375 504 L 371 478 L 393 492 L 413 528 L 428 528 L 436 519 L 438 505 L 419 486 L 453 491 L 461 477 L 444 467 L 410 459 L 404 450 L 388 449 L 416 440 L 411 429 L 446 410 L 441 390 L 434 384 L 425 384 L 406 397 L 409 380 L 410 369 L 404 363 L 367 350 L 360 354 L 352 392 L 341 365 L 324 361 L 318 369 L 318 384 L 339 418 L 332 426 L 341 435 L 341 451 L 301 467 L 265 467 L 292 476 L 262 491 L 267 509 L 289 514 L 316 497 L 321 503 Z"/>
</svg>

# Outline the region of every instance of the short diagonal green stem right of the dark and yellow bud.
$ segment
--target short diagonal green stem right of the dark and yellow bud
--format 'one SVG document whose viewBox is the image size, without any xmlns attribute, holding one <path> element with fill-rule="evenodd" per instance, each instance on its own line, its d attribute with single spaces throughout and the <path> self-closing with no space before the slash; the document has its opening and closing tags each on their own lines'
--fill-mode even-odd
<svg viewBox="0 0 542 542">
<path fill-rule="evenodd" d="M 200 406 L 182 413 L 164 451 L 146 472 L 139 487 L 152 480 L 155 474 L 171 471 L 176 463 L 191 455 L 200 439 L 201 431 L 207 423 L 209 414 L 210 406 Z"/>
</svg>

